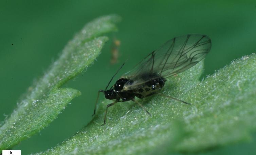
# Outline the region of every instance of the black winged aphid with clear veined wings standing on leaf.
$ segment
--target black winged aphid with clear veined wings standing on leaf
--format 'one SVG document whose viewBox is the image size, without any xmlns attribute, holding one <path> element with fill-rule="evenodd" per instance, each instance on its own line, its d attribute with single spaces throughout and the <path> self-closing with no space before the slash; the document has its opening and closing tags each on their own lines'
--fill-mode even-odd
<svg viewBox="0 0 256 155">
<path fill-rule="evenodd" d="M 107 90 L 110 82 L 123 67 L 123 64 L 111 78 L 106 89 L 98 91 L 98 97 L 99 93 L 103 92 L 105 98 L 114 100 L 113 103 L 107 105 L 104 124 L 106 124 L 108 107 L 117 102 L 132 100 L 139 104 L 141 108 L 150 115 L 150 113 L 135 100 L 135 96 L 145 98 L 153 94 L 163 95 L 159 93 L 159 91 L 163 88 L 166 78 L 194 66 L 209 53 L 210 49 L 211 39 L 205 35 L 190 34 L 173 38 L 164 43 L 159 49 L 151 52 L 138 63 L 133 70 L 123 75 L 115 82 L 111 89 Z M 163 96 L 190 104 L 177 98 L 166 95 Z M 94 114 L 98 97 L 95 103 Z"/>
</svg>

